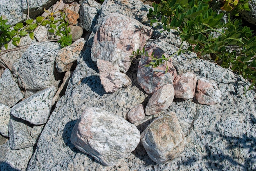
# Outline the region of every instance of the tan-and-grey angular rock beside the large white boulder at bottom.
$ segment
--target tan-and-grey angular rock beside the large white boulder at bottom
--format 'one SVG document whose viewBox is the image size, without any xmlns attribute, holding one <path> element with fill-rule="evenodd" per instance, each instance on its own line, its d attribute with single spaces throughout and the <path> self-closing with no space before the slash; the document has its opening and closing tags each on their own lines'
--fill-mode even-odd
<svg viewBox="0 0 256 171">
<path fill-rule="evenodd" d="M 148 156 L 158 164 L 177 158 L 186 147 L 186 137 L 175 112 L 153 120 L 141 133 L 141 142 Z"/>
</svg>

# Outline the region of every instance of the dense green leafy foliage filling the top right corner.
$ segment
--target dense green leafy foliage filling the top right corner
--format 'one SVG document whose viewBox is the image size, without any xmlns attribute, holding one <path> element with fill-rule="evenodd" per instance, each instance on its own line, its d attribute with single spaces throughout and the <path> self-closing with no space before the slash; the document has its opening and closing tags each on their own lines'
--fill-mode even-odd
<svg viewBox="0 0 256 171">
<path fill-rule="evenodd" d="M 161 24 L 167 31 L 177 29 L 182 40 L 191 44 L 189 51 L 198 56 L 210 53 L 222 67 L 252 80 L 249 89 L 256 85 L 256 37 L 249 27 L 241 26 L 240 20 L 231 21 L 228 16 L 223 23 L 223 13 L 210 9 L 208 0 L 162 0 L 153 7 L 148 13 L 151 25 Z"/>
</svg>

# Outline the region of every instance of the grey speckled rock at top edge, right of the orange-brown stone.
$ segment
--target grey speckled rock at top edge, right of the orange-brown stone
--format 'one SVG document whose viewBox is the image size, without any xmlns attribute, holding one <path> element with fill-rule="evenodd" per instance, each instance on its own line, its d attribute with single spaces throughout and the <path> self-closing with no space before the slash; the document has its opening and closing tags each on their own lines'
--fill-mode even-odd
<svg viewBox="0 0 256 171">
<path fill-rule="evenodd" d="M 86 31 L 92 31 L 99 17 L 101 4 L 95 0 L 84 0 L 80 9 L 80 26 Z"/>
</svg>

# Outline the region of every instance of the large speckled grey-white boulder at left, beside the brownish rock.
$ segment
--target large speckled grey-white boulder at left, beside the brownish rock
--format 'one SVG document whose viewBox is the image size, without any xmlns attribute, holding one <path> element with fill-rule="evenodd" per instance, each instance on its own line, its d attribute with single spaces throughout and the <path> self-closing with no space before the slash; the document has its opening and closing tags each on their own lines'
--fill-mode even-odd
<svg viewBox="0 0 256 171">
<path fill-rule="evenodd" d="M 19 84 L 28 90 L 42 90 L 56 83 L 55 56 L 61 49 L 54 42 L 34 42 L 19 60 Z"/>
</svg>

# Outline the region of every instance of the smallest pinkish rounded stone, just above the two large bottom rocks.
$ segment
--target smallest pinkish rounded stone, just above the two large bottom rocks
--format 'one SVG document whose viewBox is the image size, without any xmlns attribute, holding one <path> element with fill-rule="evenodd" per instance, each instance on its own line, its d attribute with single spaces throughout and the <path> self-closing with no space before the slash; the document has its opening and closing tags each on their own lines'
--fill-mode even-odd
<svg viewBox="0 0 256 171">
<path fill-rule="evenodd" d="M 138 104 L 127 113 L 127 118 L 131 123 L 136 123 L 145 118 L 143 104 Z"/>
</svg>

